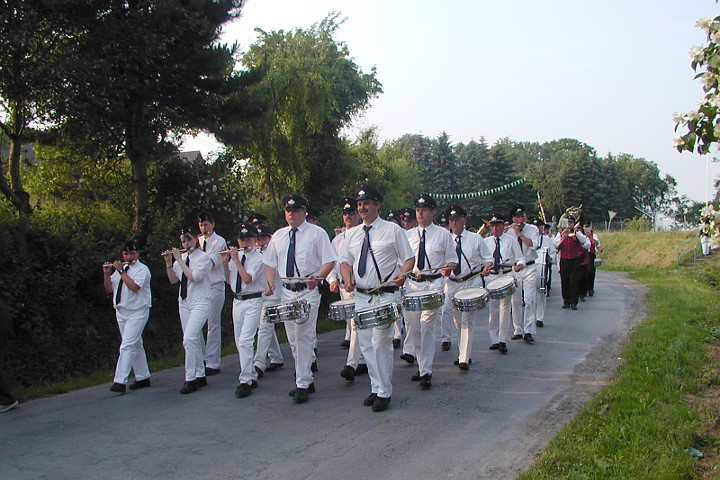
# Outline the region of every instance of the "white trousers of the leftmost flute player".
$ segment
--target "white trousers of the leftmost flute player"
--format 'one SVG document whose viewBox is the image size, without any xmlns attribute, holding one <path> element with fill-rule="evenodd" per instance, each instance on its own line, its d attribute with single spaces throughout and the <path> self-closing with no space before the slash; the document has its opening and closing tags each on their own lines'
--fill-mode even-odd
<svg viewBox="0 0 720 480">
<path fill-rule="evenodd" d="M 131 370 L 135 371 L 135 380 L 150 378 L 150 369 L 142 343 L 142 332 L 149 316 L 149 308 L 130 311 L 124 308 L 115 310 L 115 318 L 120 328 L 122 341 L 113 382 L 126 384 Z"/>
</svg>

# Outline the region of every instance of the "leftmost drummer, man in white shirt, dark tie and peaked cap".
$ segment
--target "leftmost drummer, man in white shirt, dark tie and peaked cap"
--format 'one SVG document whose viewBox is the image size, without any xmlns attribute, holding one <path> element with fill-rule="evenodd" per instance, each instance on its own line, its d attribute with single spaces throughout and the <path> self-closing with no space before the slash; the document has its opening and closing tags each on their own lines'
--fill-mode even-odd
<svg viewBox="0 0 720 480">
<path fill-rule="evenodd" d="M 272 295 L 280 271 L 282 303 L 304 300 L 310 305 L 306 321 L 285 322 L 285 333 L 295 359 L 295 389 L 291 394 L 295 403 L 305 403 L 309 393 L 315 391 L 311 364 L 320 306 L 318 277 L 325 278 L 332 271 L 337 255 L 327 232 L 305 221 L 308 203 L 304 197 L 287 194 L 282 203 L 288 226 L 275 232 L 263 255 L 265 295 Z"/>
</svg>

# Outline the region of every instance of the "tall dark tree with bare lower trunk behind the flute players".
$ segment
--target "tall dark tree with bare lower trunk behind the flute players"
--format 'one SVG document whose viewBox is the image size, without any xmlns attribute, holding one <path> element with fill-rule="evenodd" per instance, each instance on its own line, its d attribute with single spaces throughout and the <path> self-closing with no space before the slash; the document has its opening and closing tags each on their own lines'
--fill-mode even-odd
<svg viewBox="0 0 720 480">
<path fill-rule="evenodd" d="M 133 229 L 148 235 L 148 166 L 177 135 L 217 127 L 224 99 L 243 90 L 234 47 L 218 45 L 242 0 L 98 0 L 55 98 L 62 138 L 79 151 L 113 146 L 132 165 Z M 128 189 L 130 190 L 130 189 Z"/>
</svg>

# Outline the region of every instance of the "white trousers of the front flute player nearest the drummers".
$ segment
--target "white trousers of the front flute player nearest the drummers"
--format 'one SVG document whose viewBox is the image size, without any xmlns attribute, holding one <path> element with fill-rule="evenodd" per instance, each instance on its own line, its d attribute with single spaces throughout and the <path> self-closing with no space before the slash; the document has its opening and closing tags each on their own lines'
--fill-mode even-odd
<svg viewBox="0 0 720 480">
<path fill-rule="evenodd" d="M 240 383 L 250 385 L 257 380 L 253 361 L 255 350 L 253 343 L 255 334 L 260 323 L 260 312 L 262 311 L 262 298 L 250 300 L 233 300 L 233 331 L 235 333 L 235 345 L 240 359 Z"/>
</svg>

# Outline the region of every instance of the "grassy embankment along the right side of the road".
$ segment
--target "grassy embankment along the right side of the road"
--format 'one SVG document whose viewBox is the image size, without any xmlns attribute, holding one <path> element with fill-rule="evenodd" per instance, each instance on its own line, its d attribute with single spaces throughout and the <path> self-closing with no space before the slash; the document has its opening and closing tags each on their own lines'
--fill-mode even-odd
<svg viewBox="0 0 720 480">
<path fill-rule="evenodd" d="M 648 317 L 624 345 L 612 385 L 521 480 L 720 478 L 720 254 L 676 269 L 675 246 L 692 236 L 602 234 L 602 268 L 650 287 Z"/>
</svg>

